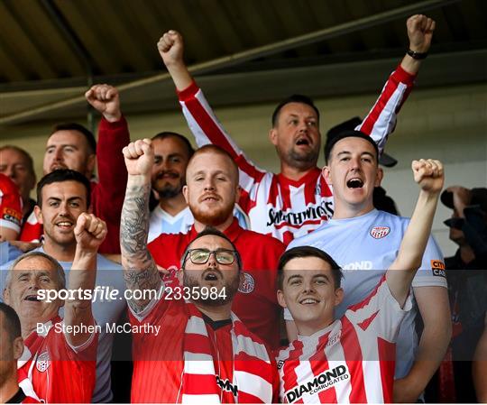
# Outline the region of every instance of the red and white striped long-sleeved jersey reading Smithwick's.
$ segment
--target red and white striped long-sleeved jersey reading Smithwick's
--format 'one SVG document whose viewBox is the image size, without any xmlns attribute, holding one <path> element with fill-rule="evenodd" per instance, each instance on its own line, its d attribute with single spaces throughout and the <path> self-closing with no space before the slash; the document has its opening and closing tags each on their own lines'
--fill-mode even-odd
<svg viewBox="0 0 487 405">
<path fill-rule="evenodd" d="M 400 66 L 392 72 L 371 111 L 357 126 L 370 134 L 382 150 L 396 125 L 396 115 L 409 96 L 414 75 Z M 240 171 L 240 207 L 250 218 L 251 229 L 278 238 L 284 244 L 308 234 L 333 216 L 332 190 L 321 170 L 308 171 L 295 181 L 256 167 L 225 133 L 196 83 L 179 92 L 179 103 L 198 146 L 214 143 L 229 152 Z"/>
</svg>

